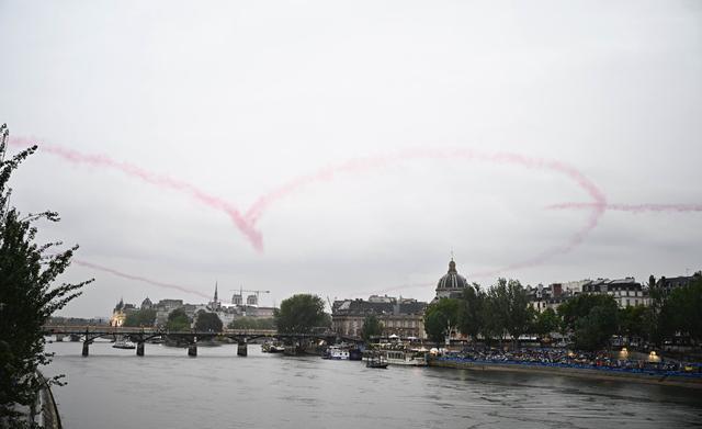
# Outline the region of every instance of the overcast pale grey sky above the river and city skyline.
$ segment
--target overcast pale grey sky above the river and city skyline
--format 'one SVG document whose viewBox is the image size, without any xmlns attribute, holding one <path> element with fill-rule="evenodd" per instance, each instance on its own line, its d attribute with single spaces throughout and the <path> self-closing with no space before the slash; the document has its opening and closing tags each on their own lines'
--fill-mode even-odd
<svg viewBox="0 0 702 429">
<path fill-rule="evenodd" d="M 46 148 L 13 203 L 86 263 L 264 305 L 431 300 L 452 250 L 482 284 L 702 269 L 698 1 L 3 0 L 0 53 L 0 122 Z M 92 276 L 63 314 L 204 301 L 61 280 Z"/>
</svg>

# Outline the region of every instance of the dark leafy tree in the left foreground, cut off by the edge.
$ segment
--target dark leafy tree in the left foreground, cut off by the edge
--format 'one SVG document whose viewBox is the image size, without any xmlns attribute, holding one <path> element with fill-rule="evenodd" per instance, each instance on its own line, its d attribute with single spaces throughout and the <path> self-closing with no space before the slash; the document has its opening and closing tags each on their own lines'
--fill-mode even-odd
<svg viewBox="0 0 702 429">
<path fill-rule="evenodd" d="M 42 381 L 37 369 L 50 362 L 42 326 L 54 312 L 81 294 L 92 280 L 77 284 L 55 280 L 66 271 L 78 246 L 37 244 L 39 221 L 58 222 L 57 213 L 21 215 L 10 206 L 12 172 L 36 146 L 5 159 L 7 125 L 0 126 L 0 427 L 26 427 L 18 406 L 33 408 Z M 49 384 L 60 384 L 60 376 Z"/>
</svg>

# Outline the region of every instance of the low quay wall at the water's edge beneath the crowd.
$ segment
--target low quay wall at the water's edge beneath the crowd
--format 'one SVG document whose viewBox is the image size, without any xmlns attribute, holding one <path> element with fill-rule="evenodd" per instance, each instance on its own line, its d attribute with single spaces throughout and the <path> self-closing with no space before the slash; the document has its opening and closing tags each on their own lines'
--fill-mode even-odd
<svg viewBox="0 0 702 429">
<path fill-rule="evenodd" d="M 666 386 L 690 387 L 702 390 L 702 377 L 687 374 L 661 374 L 656 372 L 615 371 L 595 368 L 574 368 L 544 365 L 540 363 L 480 362 L 460 359 L 434 358 L 428 361 L 429 366 L 458 369 L 469 371 L 507 371 L 531 374 L 562 375 L 578 379 L 635 382 Z"/>
</svg>

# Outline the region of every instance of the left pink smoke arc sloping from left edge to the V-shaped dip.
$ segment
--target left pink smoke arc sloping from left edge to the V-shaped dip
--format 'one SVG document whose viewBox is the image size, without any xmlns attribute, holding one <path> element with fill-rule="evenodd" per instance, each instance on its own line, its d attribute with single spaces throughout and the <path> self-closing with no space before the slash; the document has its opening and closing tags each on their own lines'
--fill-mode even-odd
<svg viewBox="0 0 702 429">
<path fill-rule="evenodd" d="M 10 144 L 18 146 L 30 146 L 31 142 L 25 138 L 11 138 Z M 84 163 L 92 167 L 112 168 L 159 188 L 171 189 L 178 192 L 185 193 L 212 208 L 225 212 L 237 226 L 237 228 L 239 228 L 239 230 L 249 239 L 253 248 L 258 251 L 263 250 L 263 237 L 261 236 L 261 233 L 256 230 L 253 228 L 253 224 L 247 222 L 234 205 L 220 197 L 211 195 L 197 189 L 191 183 L 176 180 L 168 176 L 150 172 L 133 163 L 116 161 L 104 155 L 84 155 L 77 150 L 53 145 L 41 145 L 39 150 L 56 155 L 72 163 Z"/>
</svg>

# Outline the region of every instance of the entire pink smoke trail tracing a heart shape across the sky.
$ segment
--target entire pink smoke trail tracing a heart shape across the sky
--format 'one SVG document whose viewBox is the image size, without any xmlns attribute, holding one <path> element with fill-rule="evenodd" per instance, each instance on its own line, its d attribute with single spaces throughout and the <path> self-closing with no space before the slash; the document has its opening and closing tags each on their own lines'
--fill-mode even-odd
<svg viewBox="0 0 702 429">
<path fill-rule="evenodd" d="M 29 146 L 31 142 L 26 138 L 11 138 L 10 143 L 13 145 Z M 511 154 L 511 153 L 483 153 L 472 149 L 465 148 L 452 148 L 452 149 L 410 149 L 403 150 L 394 154 L 383 154 L 376 155 L 372 157 L 363 157 L 363 158 L 354 158 L 347 161 L 343 161 L 338 165 L 332 165 L 325 167 L 316 172 L 309 174 L 303 174 L 297 178 L 294 178 L 281 187 L 278 187 L 262 196 L 260 196 L 250 207 L 246 211 L 245 214 L 237 208 L 234 204 L 225 201 L 222 197 L 212 195 L 207 192 L 202 191 L 192 183 L 173 179 L 169 176 L 158 174 L 151 172 L 141 167 L 135 166 L 129 162 L 117 161 L 111 157 L 105 155 L 90 155 L 79 153 L 73 149 L 65 148 L 61 146 L 55 145 L 41 145 L 41 150 L 55 155 L 65 161 L 72 163 L 83 163 L 93 167 L 103 167 L 103 168 L 112 168 L 123 173 L 141 180 L 144 182 L 154 184 L 159 188 L 174 190 L 181 193 L 189 195 L 201 204 L 204 204 L 208 207 L 219 210 L 227 214 L 229 218 L 233 221 L 235 226 L 244 234 L 244 236 L 249 240 L 251 246 L 258 250 L 263 250 L 263 238 L 260 232 L 256 229 L 257 222 L 262 217 L 262 215 L 273 205 L 275 202 L 288 197 L 290 195 L 301 191 L 303 188 L 313 184 L 315 182 L 327 182 L 333 180 L 339 174 L 353 174 L 361 173 L 371 170 L 378 170 L 383 168 L 387 168 L 393 163 L 407 162 L 412 160 L 465 160 L 465 161 L 475 161 L 475 162 L 488 162 L 495 165 L 508 165 L 514 166 L 525 169 L 532 170 L 542 170 L 548 171 L 555 174 L 559 174 L 570 181 L 573 181 L 577 187 L 579 187 L 582 191 L 585 191 L 591 199 L 591 202 L 588 203 L 565 203 L 565 204 L 555 204 L 550 206 L 550 208 L 585 208 L 589 210 L 590 214 L 587 218 L 586 224 L 579 228 L 575 234 L 573 234 L 561 246 L 556 246 L 546 250 L 543 250 L 526 260 L 508 264 L 506 267 L 490 270 L 490 271 L 480 271 L 474 272 L 468 275 L 472 276 L 489 276 L 499 274 L 505 271 L 514 270 L 519 268 L 533 267 L 543 263 L 547 259 L 561 255 L 564 252 L 568 252 L 573 250 L 575 247 L 579 246 L 587 235 L 597 227 L 600 217 L 607 210 L 619 210 L 626 212 L 647 212 L 647 211 L 658 211 L 658 212 L 668 212 L 668 211 L 679 211 L 679 212 L 689 212 L 689 211 L 702 211 L 701 205 L 694 204 L 638 204 L 638 205 L 624 205 L 624 204 L 608 204 L 604 193 L 593 183 L 591 182 L 581 171 L 576 168 L 557 161 L 557 160 L 548 160 L 543 158 L 533 158 L 523 156 L 520 154 Z M 83 266 L 89 266 L 88 262 L 81 262 Z M 94 266 L 91 268 L 100 269 L 103 271 L 112 272 L 116 275 L 127 276 L 129 278 L 132 274 L 125 274 L 117 272 L 116 270 L 112 270 L 105 267 Z M 155 285 L 165 285 L 166 283 L 148 280 L 139 276 L 141 281 L 146 281 L 148 283 Z M 172 285 L 171 285 L 172 286 Z M 182 289 L 186 291 L 186 289 Z M 192 290 L 188 290 L 192 293 Z"/>
</svg>

